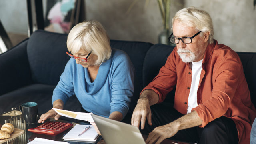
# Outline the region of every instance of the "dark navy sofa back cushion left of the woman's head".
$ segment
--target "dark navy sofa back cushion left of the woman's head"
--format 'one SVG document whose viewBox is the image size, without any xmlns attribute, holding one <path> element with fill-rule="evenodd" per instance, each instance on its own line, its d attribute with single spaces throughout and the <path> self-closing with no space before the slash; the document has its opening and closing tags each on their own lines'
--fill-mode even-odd
<svg viewBox="0 0 256 144">
<path fill-rule="evenodd" d="M 32 80 L 35 83 L 57 85 L 66 63 L 67 35 L 37 30 L 28 40 L 27 53 Z"/>
</svg>

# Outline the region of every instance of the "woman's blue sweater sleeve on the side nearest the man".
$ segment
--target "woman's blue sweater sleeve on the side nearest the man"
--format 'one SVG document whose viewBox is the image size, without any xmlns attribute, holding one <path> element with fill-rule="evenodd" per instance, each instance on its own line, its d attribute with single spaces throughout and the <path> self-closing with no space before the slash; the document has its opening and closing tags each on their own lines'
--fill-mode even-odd
<svg viewBox="0 0 256 144">
<path fill-rule="evenodd" d="M 134 66 L 126 54 L 114 58 L 112 69 L 112 98 L 110 113 L 118 111 L 126 116 L 134 92 Z"/>
</svg>

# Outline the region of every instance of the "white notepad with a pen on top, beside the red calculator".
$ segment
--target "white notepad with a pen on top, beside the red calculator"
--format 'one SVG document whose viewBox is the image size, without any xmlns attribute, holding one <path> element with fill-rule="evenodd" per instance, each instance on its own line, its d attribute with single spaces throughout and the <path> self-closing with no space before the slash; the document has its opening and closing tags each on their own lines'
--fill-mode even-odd
<svg viewBox="0 0 256 144">
<path fill-rule="evenodd" d="M 90 125 L 90 128 L 81 134 L 84 129 L 89 125 L 80 125 L 76 124 L 64 137 L 65 141 L 76 141 L 76 142 L 96 142 L 100 135 L 97 134 L 93 126 Z M 79 136 L 79 134 L 81 134 Z"/>
</svg>

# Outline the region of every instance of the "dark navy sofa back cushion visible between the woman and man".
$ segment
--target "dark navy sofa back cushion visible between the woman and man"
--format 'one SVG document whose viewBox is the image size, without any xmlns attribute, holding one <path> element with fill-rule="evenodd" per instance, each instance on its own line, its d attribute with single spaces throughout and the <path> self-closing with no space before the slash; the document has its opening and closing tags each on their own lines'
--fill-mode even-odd
<svg viewBox="0 0 256 144">
<path fill-rule="evenodd" d="M 129 112 L 133 112 L 137 104 L 140 91 L 144 88 L 142 85 L 143 61 L 146 56 L 146 52 L 150 49 L 152 45 L 153 44 L 148 42 L 110 40 L 110 46 L 112 48 L 123 50 L 128 54 L 135 68 L 134 94 L 132 97 L 132 102 L 130 104 Z"/>
</svg>

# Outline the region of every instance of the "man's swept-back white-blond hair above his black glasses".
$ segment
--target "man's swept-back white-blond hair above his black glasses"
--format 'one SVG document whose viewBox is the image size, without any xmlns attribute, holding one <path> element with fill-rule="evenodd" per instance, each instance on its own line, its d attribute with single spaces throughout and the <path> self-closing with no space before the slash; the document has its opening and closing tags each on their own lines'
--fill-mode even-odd
<svg viewBox="0 0 256 144">
<path fill-rule="evenodd" d="M 204 32 L 210 32 L 208 42 L 209 44 L 214 42 L 212 18 L 208 12 L 195 7 L 183 8 L 176 12 L 175 16 L 172 18 L 172 25 L 175 20 L 182 22 L 182 24 L 185 26 L 196 27 L 198 31 L 203 32 L 201 32 L 201 36 L 204 34 Z"/>
</svg>

